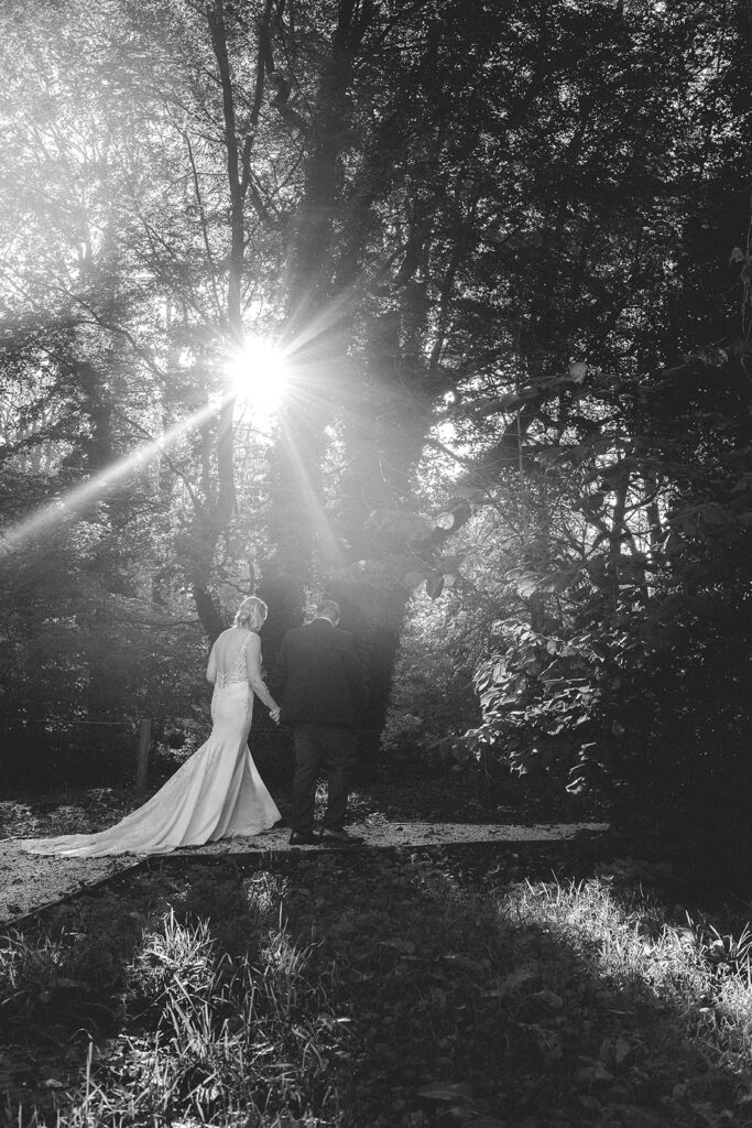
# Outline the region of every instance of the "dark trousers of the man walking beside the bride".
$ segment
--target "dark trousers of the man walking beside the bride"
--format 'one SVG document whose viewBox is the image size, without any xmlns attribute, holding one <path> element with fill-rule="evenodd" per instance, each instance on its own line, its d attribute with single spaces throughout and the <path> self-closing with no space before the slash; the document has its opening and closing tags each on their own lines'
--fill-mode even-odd
<svg viewBox="0 0 752 1128">
<path fill-rule="evenodd" d="M 324 826 L 342 830 L 352 781 L 355 732 L 328 724 L 297 724 L 295 774 L 292 781 L 292 829 L 308 834 L 313 829 L 316 783 L 321 768 L 329 779 Z"/>
</svg>

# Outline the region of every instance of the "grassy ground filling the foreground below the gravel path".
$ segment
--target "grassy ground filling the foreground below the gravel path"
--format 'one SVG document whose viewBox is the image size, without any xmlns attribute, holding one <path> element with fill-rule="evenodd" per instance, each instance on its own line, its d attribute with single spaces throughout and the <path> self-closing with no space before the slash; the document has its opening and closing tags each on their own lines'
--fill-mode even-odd
<svg viewBox="0 0 752 1128">
<path fill-rule="evenodd" d="M 9 934 L 6 1122 L 752 1123 L 744 945 L 470 854 L 157 865 Z"/>
</svg>

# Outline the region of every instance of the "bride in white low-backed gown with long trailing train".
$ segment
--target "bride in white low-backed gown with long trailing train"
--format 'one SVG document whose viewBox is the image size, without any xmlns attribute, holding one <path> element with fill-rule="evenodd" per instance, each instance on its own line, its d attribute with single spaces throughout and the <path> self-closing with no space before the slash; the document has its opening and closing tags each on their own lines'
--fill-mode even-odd
<svg viewBox="0 0 752 1128">
<path fill-rule="evenodd" d="M 20 843 L 24 849 L 70 857 L 168 854 L 178 846 L 268 830 L 280 812 L 247 746 L 254 695 L 273 721 L 280 719 L 280 706 L 262 678 L 258 632 L 266 613 L 256 596 L 245 599 L 235 626 L 212 646 L 206 667 L 206 679 L 214 685 L 211 734 L 156 795 L 107 830 L 27 838 Z"/>
</svg>

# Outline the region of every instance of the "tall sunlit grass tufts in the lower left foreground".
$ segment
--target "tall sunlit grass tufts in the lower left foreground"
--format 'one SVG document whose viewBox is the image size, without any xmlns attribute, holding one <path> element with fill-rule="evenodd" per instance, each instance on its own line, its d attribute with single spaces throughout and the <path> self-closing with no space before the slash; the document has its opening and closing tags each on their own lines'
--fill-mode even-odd
<svg viewBox="0 0 752 1128">
<path fill-rule="evenodd" d="M 143 929 L 123 968 L 127 1033 L 104 1049 L 90 1043 L 83 1082 L 64 1109 L 29 1111 L 8 1102 L 7 1121 L 19 1128 L 258 1128 L 284 1117 L 304 1122 L 313 1110 L 326 1119 L 337 1104 L 330 1050 L 344 1028 L 329 1013 L 324 984 L 309 978 L 311 945 L 293 943 L 281 904 L 268 925 L 274 882 L 246 884 L 248 919 L 267 920 L 260 943 L 249 936 L 253 963 L 248 954 L 222 951 L 209 919 L 182 920 L 168 907 Z M 17 985 L 16 1002 L 19 993 L 34 998 L 61 955 L 69 955 L 65 936 L 9 942 L 0 968 Z"/>
</svg>

